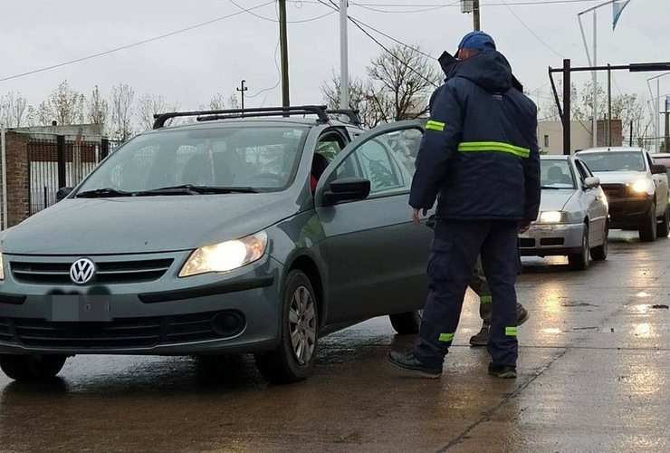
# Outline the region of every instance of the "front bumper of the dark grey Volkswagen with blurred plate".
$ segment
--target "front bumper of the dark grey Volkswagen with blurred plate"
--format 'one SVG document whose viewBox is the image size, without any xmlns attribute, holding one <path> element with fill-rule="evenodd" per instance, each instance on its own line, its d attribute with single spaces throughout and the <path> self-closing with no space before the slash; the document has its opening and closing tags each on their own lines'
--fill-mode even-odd
<svg viewBox="0 0 670 453">
<path fill-rule="evenodd" d="M 26 283 L 14 278 L 12 263 L 36 258 L 4 255 L 10 271 L 0 284 L 0 353 L 193 355 L 274 349 L 280 341 L 282 265 L 265 255 L 229 273 L 178 278 L 187 255 L 173 254 L 168 271 L 152 281 L 92 285 Z M 38 258 L 72 262 L 67 256 Z M 92 317 L 87 304 L 94 307 Z"/>
</svg>

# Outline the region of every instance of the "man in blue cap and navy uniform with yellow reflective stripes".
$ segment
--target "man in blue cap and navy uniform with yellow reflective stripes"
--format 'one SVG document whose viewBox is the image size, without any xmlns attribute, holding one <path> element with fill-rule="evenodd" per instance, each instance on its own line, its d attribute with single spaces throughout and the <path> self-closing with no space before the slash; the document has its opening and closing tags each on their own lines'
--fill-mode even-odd
<svg viewBox="0 0 670 453">
<path fill-rule="evenodd" d="M 446 54 L 446 53 L 445 53 Z M 448 54 L 446 54 L 448 56 Z M 516 377 L 519 231 L 540 207 L 537 108 L 514 88 L 510 63 L 483 32 L 466 34 L 457 61 L 441 59 L 447 80 L 430 100 L 409 204 L 413 219 L 437 200 L 428 260 L 430 293 L 412 352 L 388 354 L 397 367 L 442 374 L 477 255 L 491 288 L 488 372 Z"/>
</svg>

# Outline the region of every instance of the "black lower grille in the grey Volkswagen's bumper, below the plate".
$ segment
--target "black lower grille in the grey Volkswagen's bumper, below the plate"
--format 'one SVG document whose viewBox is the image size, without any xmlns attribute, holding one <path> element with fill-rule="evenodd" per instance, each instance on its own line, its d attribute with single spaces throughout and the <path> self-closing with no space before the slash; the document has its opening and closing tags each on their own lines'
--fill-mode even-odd
<svg viewBox="0 0 670 453">
<path fill-rule="evenodd" d="M 229 334 L 221 330 L 217 332 L 214 320 L 221 314 L 232 314 L 241 320 L 240 329 Z M 43 349 L 95 351 L 214 340 L 235 336 L 243 328 L 244 317 L 237 312 L 121 318 L 110 323 L 51 323 L 35 318 L 0 318 L 0 342 Z"/>
</svg>

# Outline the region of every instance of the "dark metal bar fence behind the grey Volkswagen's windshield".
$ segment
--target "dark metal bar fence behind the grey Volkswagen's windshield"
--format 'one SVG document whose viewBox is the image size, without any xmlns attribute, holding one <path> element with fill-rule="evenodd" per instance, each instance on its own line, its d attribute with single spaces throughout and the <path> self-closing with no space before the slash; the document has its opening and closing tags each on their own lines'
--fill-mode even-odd
<svg viewBox="0 0 670 453">
<path fill-rule="evenodd" d="M 28 140 L 30 214 L 56 202 L 59 188 L 74 187 L 94 169 L 118 141 L 100 137 L 44 135 Z"/>
</svg>

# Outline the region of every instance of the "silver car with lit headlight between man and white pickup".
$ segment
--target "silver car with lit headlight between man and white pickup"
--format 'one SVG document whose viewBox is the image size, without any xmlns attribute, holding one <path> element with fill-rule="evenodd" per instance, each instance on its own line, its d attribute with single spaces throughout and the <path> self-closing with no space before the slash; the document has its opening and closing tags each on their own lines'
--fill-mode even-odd
<svg viewBox="0 0 670 453">
<path fill-rule="evenodd" d="M 579 158 L 540 157 L 540 215 L 519 236 L 524 256 L 567 255 L 570 267 L 608 257 L 608 201 L 598 178 Z"/>
</svg>

